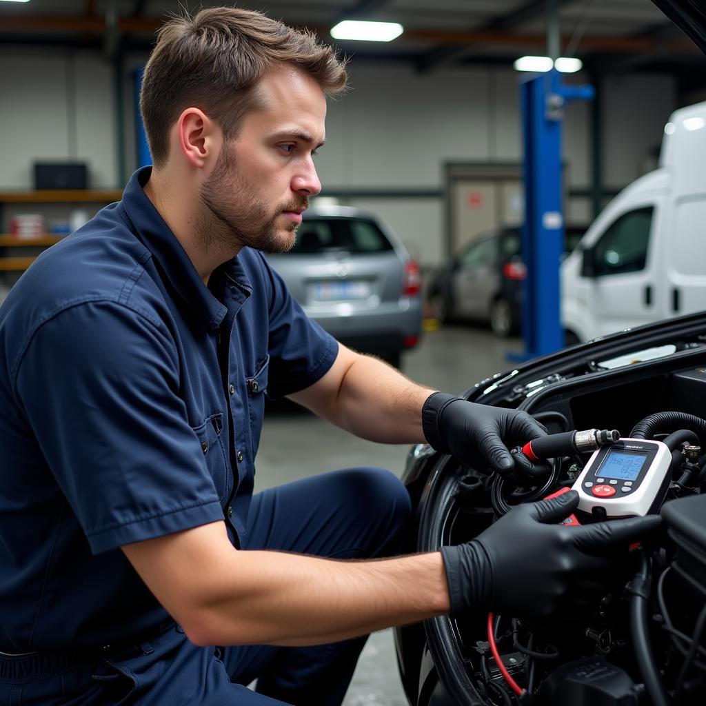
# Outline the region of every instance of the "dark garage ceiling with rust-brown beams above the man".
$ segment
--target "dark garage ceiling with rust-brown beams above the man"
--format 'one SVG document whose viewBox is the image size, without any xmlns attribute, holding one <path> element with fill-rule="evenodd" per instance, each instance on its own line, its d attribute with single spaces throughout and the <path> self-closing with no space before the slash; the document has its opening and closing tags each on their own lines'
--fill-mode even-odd
<svg viewBox="0 0 706 706">
<path fill-rule="evenodd" d="M 650 0 L 554 0 L 562 54 L 595 74 L 668 71 L 684 88 L 706 85 L 706 59 Z M 116 56 L 148 49 L 167 13 L 221 2 L 197 0 L 30 0 L 0 2 L 0 44 L 103 47 Z M 546 53 L 545 0 L 247 0 L 239 6 L 306 25 L 325 41 L 343 18 L 400 22 L 389 44 L 338 42 L 346 54 L 405 61 L 421 72 L 461 64 L 510 66 Z"/>
</svg>

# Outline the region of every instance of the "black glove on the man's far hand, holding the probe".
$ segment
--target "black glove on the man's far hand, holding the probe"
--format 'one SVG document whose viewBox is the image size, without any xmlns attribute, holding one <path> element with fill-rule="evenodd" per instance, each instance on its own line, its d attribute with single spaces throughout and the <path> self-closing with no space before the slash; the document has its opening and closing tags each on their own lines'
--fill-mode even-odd
<svg viewBox="0 0 706 706">
<path fill-rule="evenodd" d="M 445 393 L 427 397 L 421 408 L 421 426 L 426 441 L 437 451 L 450 453 L 480 472 L 486 472 L 490 464 L 502 476 L 515 469 L 508 447 L 546 434 L 527 412 L 477 405 Z M 530 466 L 530 477 L 547 477 L 551 471 L 546 463 L 530 462 Z"/>
</svg>

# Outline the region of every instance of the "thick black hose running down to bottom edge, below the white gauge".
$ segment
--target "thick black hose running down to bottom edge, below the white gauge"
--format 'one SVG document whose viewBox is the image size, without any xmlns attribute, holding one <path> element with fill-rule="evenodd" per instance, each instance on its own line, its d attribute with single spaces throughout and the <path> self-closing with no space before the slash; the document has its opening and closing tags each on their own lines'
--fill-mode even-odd
<svg viewBox="0 0 706 706">
<path fill-rule="evenodd" d="M 650 559 L 645 549 L 638 549 L 640 566 L 635 578 L 628 586 L 630 598 L 630 633 L 633 636 L 633 648 L 638 668 L 645 682 L 645 690 L 652 706 L 669 706 L 662 677 L 650 646 L 650 632 L 647 623 L 647 599 L 650 596 Z"/>
</svg>

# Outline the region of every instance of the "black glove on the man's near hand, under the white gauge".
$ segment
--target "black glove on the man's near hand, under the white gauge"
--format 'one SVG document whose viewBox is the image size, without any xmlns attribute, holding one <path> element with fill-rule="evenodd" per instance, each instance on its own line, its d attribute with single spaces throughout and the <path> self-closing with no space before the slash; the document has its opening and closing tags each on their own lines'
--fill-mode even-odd
<svg viewBox="0 0 706 706">
<path fill-rule="evenodd" d="M 654 534 L 659 515 L 594 525 L 557 525 L 578 493 L 519 505 L 485 532 L 441 554 L 453 617 L 503 611 L 546 623 L 590 610 L 624 565 L 628 546 Z"/>
</svg>

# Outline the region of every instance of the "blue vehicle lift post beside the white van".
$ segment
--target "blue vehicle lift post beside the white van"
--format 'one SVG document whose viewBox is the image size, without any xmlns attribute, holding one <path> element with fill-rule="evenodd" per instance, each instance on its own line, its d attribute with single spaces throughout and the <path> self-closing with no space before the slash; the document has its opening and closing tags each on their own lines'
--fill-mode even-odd
<svg viewBox="0 0 706 706">
<path fill-rule="evenodd" d="M 563 348 L 559 292 L 564 239 L 561 121 L 566 104 L 593 96 L 592 86 L 562 85 L 556 68 L 520 85 L 525 144 L 522 258 L 527 265 L 522 302 L 523 360 Z"/>
</svg>

